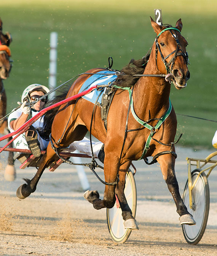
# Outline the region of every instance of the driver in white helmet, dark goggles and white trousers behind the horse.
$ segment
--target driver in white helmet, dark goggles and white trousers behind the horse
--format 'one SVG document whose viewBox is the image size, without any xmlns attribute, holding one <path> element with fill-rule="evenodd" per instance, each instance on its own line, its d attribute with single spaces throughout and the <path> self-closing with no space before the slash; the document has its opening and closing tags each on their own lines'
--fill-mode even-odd
<svg viewBox="0 0 217 256">
<path fill-rule="evenodd" d="M 41 96 L 49 92 L 49 89 L 46 86 L 41 84 L 31 84 L 26 87 L 22 93 L 21 102 L 18 102 L 20 108 L 11 113 L 8 117 L 8 128 L 10 132 L 18 130 L 24 123 L 27 122 L 30 118 L 34 117 L 40 110 L 45 107 L 48 97 L 38 100 L 32 107 L 26 106 L 27 102 L 33 102 L 39 99 Z M 30 149 L 32 154 L 35 157 L 41 155 L 41 150 L 45 150 L 49 144 L 48 139 L 41 138 L 39 130 L 43 131 L 44 126 L 44 116 L 38 118 L 30 127 L 26 133 L 21 134 L 18 138 L 14 139 L 14 147 L 16 149 Z M 15 137 L 14 135 L 13 137 Z M 101 142 L 92 142 L 94 157 L 98 157 L 101 162 L 104 162 L 104 144 Z M 81 153 L 91 156 L 91 147 L 90 141 L 88 138 L 84 138 L 81 141 L 74 141 L 70 144 L 70 147 L 65 150 L 65 152 L 73 152 L 75 150 L 80 151 Z M 22 152 L 16 152 L 14 154 L 14 159 L 18 159 L 23 163 L 29 154 Z M 16 173 L 12 174 L 14 178 Z M 6 177 L 6 176 L 5 176 Z M 14 178 L 12 180 L 14 180 Z M 6 179 L 8 180 L 8 179 Z"/>
</svg>

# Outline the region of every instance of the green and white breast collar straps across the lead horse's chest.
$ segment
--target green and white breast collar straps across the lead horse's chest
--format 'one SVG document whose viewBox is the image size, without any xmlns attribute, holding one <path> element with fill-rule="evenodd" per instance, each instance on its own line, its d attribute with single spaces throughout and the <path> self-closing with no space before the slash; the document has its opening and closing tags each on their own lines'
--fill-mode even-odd
<svg viewBox="0 0 217 256">
<path fill-rule="evenodd" d="M 131 113 L 133 115 L 133 117 L 135 118 L 135 120 L 140 123 L 140 125 L 144 126 L 145 128 L 147 128 L 148 130 L 150 130 L 150 134 L 148 136 L 148 139 L 145 143 L 145 147 L 144 147 L 144 151 L 142 153 L 142 156 L 140 157 L 140 159 L 138 160 L 141 160 L 145 157 L 145 154 L 147 153 L 148 149 L 149 149 L 149 146 L 150 146 L 150 143 L 151 143 L 151 140 L 152 140 L 152 136 L 156 133 L 156 130 L 158 128 L 160 128 L 160 126 L 162 125 L 162 123 L 166 120 L 166 118 L 169 116 L 169 114 L 171 113 L 171 110 L 172 110 L 172 104 L 171 104 L 171 100 L 169 98 L 169 108 L 168 110 L 164 113 L 164 115 L 158 120 L 158 122 L 156 123 L 155 126 L 151 126 L 149 125 L 148 123 L 146 123 L 145 121 L 141 120 L 135 113 L 134 111 L 134 107 L 133 107 L 133 98 L 131 97 L 132 95 L 132 89 L 131 87 L 120 87 L 120 86 L 116 86 L 116 85 L 113 85 L 113 87 L 115 88 L 118 88 L 118 89 L 123 89 L 123 90 L 127 90 L 129 92 L 129 99 L 132 99 L 131 102 L 130 102 L 130 109 L 131 109 Z"/>
</svg>

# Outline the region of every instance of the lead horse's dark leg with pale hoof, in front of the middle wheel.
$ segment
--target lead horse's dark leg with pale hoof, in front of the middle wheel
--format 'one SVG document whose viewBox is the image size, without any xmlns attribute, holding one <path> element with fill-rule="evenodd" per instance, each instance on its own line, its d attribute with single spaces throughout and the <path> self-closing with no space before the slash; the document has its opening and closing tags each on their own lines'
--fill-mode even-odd
<svg viewBox="0 0 217 256">
<path fill-rule="evenodd" d="M 127 203 L 124 194 L 126 171 L 129 169 L 130 164 L 131 161 L 121 165 L 119 170 L 119 182 L 118 185 L 116 185 L 115 187 L 115 194 L 117 195 L 118 201 L 120 203 L 123 220 L 125 220 L 124 227 L 131 229 L 139 229 L 136 220 L 132 216 L 132 211 Z"/>
</svg>

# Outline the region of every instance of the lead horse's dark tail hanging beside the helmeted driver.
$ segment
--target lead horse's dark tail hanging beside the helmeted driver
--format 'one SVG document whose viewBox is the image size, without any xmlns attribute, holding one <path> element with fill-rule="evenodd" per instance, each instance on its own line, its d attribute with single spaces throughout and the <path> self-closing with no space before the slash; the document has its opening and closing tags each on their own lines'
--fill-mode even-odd
<svg viewBox="0 0 217 256">
<path fill-rule="evenodd" d="M 70 86 L 64 87 L 64 89 L 61 89 L 58 91 L 58 94 L 53 96 L 51 100 L 48 100 L 45 107 L 49 107 L 51 105 L 54 105 L 57 102 L 60 102 L 61 100 L 64 100 L 67 96 L 67 93 L 69 92 Z M 49 141 L 49 135 L 51 134 L 51 126 L 53 124 L 54 117 L 58 111 L 59 107 L 55 107 L 51 110 L 48 110 L 44 115 L 44 123 L 43 128 L 38 128 L 37 131 L 40 134 L 41 138 Z"/>
</svg>

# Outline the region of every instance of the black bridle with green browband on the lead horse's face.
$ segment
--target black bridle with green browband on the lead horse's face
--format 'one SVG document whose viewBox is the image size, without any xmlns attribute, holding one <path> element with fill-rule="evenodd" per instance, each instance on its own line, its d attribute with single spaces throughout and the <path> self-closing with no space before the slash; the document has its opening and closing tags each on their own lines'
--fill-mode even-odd
<svg viewBox="0 0 217 256">
<path fill-rule="evenodd" d="M 172 34 L 172 37 L 174 37 L 174 39 L 176 40 L 176 43 L 177 43 L 177 47 L 176 47 L 176 50 L 174 50 L 173 52 L 171 52 L 169 55 L 167 55 L 166 57 L 163 56 L 163 53 L 161 52 L 161 49 L 160 49 L 160 44 L 158 42 L 158 38 L 160 37 L 160 35 L 165 32 L 165 31 L 168 31 L 171 32 Z M 186 64 L 190 64 L 189 62 L 189 59 L 188 59 L 188 53 L 185 52 L 182 48 L 182 45 L 180 45 L 180 42 L 179 42 L 179 38 L 177 36 L 177 33 L 176 31 L 179 31 L 179 29 L 177 28 L 172 28 L 172 27 L 168 27 L 166 29 L 163 29 L 155 38 L 155 61 L 156 61 L 156 66 L 158 68 L 158 65 L 157 65 L 157 57 L 158 57 L 158 51 L 160 52 L 160 55 L 161 55 L 161 58 L 162 58 L 162 61 L 166 67 L 166 71 L 167 71 L 167 74 L 171 73 L 172 74 L 172 71 L 173 71 L 173 68 L 174 68 L 174 63 L 176 61 L 176 58 L 177 56 L 180 56 L 182 55 L 183 58 L 185 59 L 185 62 Z M 180 31 L 179 31 L 180 32 Z M 174 56 L 171 58 L 171 60 L 169 62 L 166 61 L 166 59 L 171 56 L 172 54 L 174 53 Z M 171 68 L 170 68 L 171 66 Z"/>
</svg>

